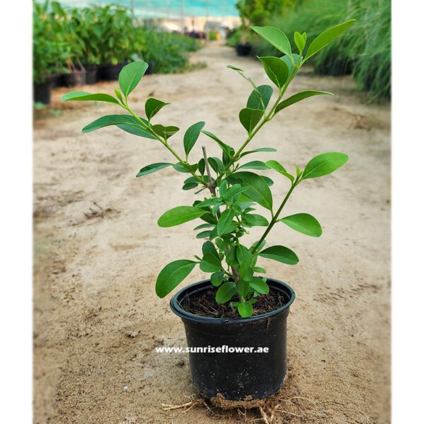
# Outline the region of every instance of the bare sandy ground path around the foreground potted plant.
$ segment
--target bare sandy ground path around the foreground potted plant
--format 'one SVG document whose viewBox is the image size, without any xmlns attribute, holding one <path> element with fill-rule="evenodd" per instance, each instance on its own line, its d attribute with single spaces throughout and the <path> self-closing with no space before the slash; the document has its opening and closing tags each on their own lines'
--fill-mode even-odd
<svg viewBox="0 0 424 424">
<path fill-rule="evenodd" d="M 172 102 L 161 112 L 163 123 L 185 130 L 206 120 L 206 129 L 240 146 L 237 115 L 250 90 L 225 65 L 265 83 L 261 66 L 216 44 L 192 59 L 208 67 L 146 76 L 134 105 L 141 110 L 154 93 Z M 114 86 L 86 90 L 112 93 Z M 262 262 L 269 276 L 297 294 L 288 321 L 289 379 L 273 423 L 388 423 L 389 106 L 365 105 L 351 78 L 304 73 L 290 93 L 305 89 L 336 95 L 286 109 L 252 148 L 277 148 L 273 158 L 290 170 L 326 151 L 348 153 L 350 162 L 330 177 L 302 183 L 286 206 L 287 214 L 313 213 L 322 237 L 280 225 L 268 239 L 300 257 L 298 266 Z M 55 92 L 53 110 L 64 91 Z M 155 296 L 155 276 L 169 261 L 198 254 L 201 240 L 194 238 L 193 223 L 163 229 L 156 220 L 168 208 L 191 204 L 193 192 L 182 192 L 184 175 L 170 169 L 135 178 L 142 166 L 171 160 L 158 143 L 112 127 L 81 134 L 84 125 L 109 113 L 120 111 L 73 103 L 59 117 L 35 121 L 35 423 L 259 423 L 257 410 L 246 416 L 204 406 L 163 411 L 161 404 L 187 402 L 194 389 L 185 355 L 154 351 L 185 341 L 169 296 Z M 193 157 L 200 157 L 202 143 L 218 154 L 204 136 Z M 172 146 L 182 151 L 182 134 Z M 270 153 L 257 155 L 267 158 Z M 288 187 L 283 177 L 272 176 L 278 201 Z M 186 283 L 201 278 L 197 269 Z"/>
</svg>

